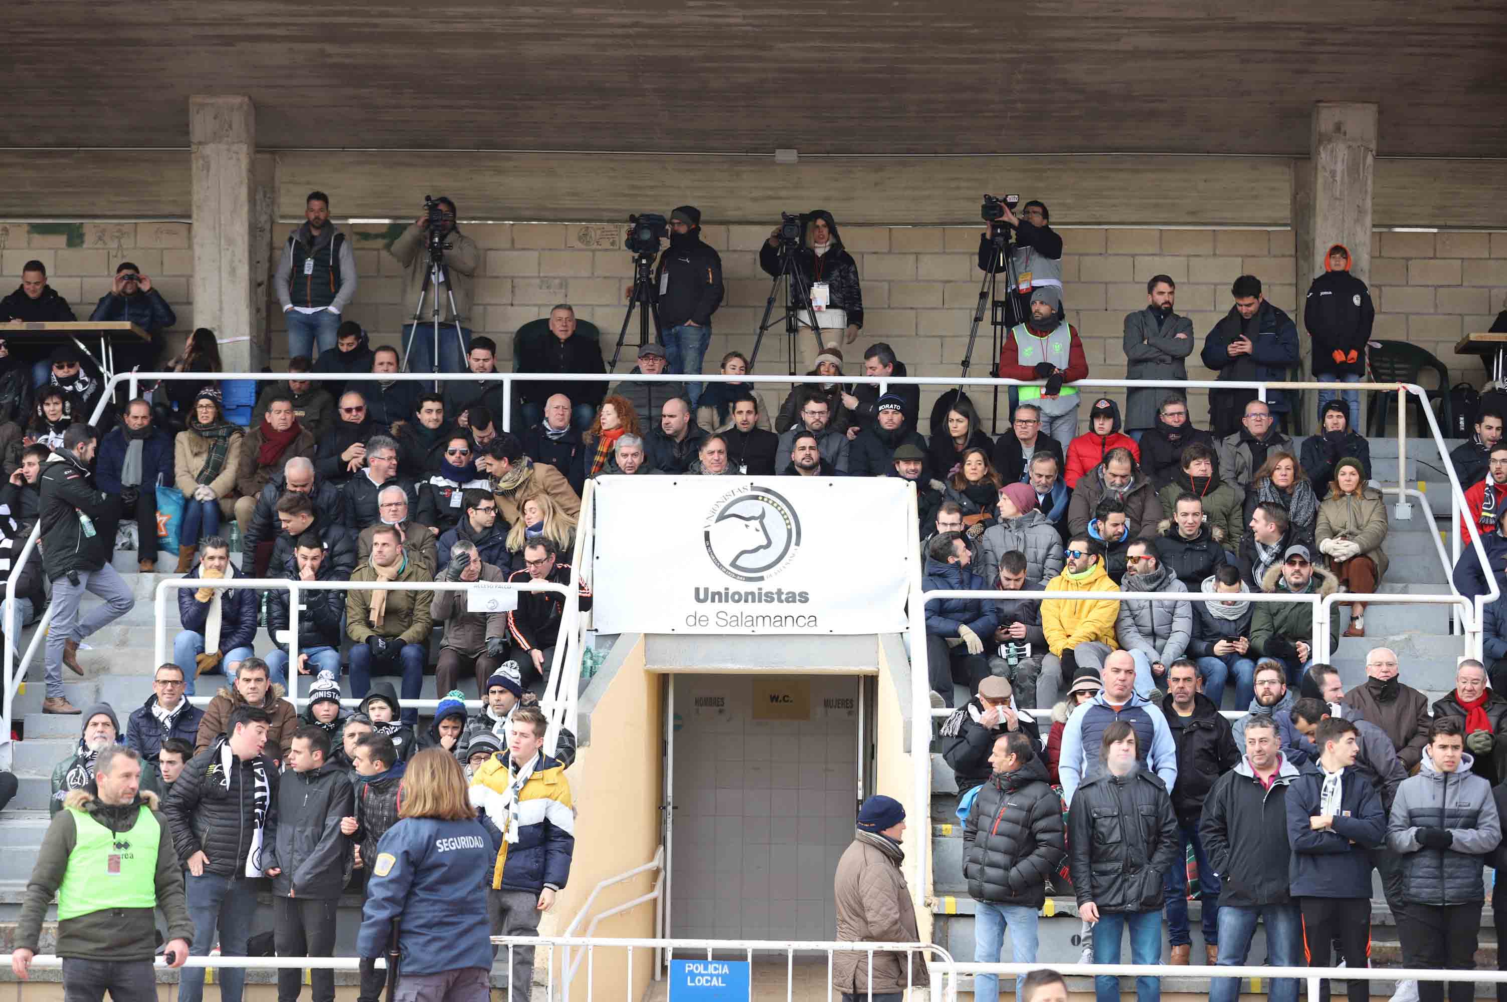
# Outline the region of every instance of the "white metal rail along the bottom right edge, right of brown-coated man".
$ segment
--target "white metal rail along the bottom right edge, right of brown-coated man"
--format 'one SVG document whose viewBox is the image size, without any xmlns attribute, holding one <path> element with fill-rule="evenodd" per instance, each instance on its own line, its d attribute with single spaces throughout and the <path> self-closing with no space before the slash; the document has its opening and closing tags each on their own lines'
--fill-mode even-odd
<svg viewBox="0 0 1507 1002">
<path fill-rule="evenodd" d="M 1028 975 L 1032 970 L 1050 967 L 1067 978 L 1198 978 L 1216 981 L 1219 978 L 1261 978 L 1266 981 L 1293 979 L 1307 985 L 1308 1002 L 1319 1002 L 1323 981 L 1483 981 L 1487 984 L 1507 982 L 1507 970 L 1439 970 L 1433 967 L 1263 967 L 1258 964 L 1213 966 L 1213 967 L 1174 967 L 1171 964 L 980 964 L 937 960 L 928 967 L 945 975 L 943 985 L 954 994 L 945 996 L 952 1002 L 957 996 L 958 982 L 966 976 L 999 975 L 1014 978 Z"/>
</svg>

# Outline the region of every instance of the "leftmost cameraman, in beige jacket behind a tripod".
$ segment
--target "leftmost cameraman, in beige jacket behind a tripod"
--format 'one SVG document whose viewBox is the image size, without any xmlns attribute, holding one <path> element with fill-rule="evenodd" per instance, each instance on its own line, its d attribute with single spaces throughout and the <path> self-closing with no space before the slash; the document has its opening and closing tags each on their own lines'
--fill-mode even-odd
<svg viewBox="0 0 1507 1002">
<path fill-rule="evenodd" d="M 437 211 L 436 235 L 445 250 L 445 279 L 439 289 L 429 286 L 429 212 L 425 211 L 413 221 L 413 226 L 402 232 L 402 237 L 392 241 L 387 249 L 398 264 L 404 267 L 402 301 L 417 303 L 419 292 L 425 291 L 437 297 L 440 303 L 440 372 L 466 372 L 466 354 L 470 351 L 470 327 L 466 325 L 470 313 L 472 279 L 476 265 L 481 264 L 481 250 L 476 241 L 463 234 L 455 226 L 455 202 L 440 196 L 434 199 Z M 455 315 L 451 315 L 451 297 L 455 295 Z M 413 324 L 402 328 L 402 350 L 408 359 L 408 372 L 434 371 L 434 303 L 428 298 L 423 312 L 419 315 L 419 341 L 408 350 L 413 339 Z M 461 339 L 466 347 L 455 344 L 455 324 L 461 325 Z"/>
</svg>

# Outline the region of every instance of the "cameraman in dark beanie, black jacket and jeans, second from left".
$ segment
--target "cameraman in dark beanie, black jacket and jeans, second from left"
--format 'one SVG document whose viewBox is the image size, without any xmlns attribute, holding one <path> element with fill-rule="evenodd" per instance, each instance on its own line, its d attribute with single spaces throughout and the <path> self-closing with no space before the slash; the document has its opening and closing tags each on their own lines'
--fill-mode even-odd
<svg viewBox="0 0 1507 1002">
<path fill-rule="evenodd" d="M 669 247 L 654 268 L 660 331 L 669 371 L 701 375 L 711 344 L 711 315 L 722 304 L 722 256 L 701 240 L 701 209 L 681 205 L 669 214 Z M 696 413 L 701 383 L 686 383 Z"/>
</svg>

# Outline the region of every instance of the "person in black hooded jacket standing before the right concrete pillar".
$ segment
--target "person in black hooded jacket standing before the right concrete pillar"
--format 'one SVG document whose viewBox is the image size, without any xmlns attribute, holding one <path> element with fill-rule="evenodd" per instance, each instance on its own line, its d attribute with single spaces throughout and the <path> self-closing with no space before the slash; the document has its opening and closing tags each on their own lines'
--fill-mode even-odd
<svg viewBox="0 0 1507 1002">
<path fill-rule="evenodd" d="M 1320 383 L 1359 383 L 1365 378 L 1365 344 L 1371 339 L 1376 307 L 1371 291 L 1350 274 L 1350 250 L 1334 244 L 1325 255 L 1323 274 L 1308 286 L 1304 300 L 1304 328 L 1313 338 L 1314 378 Z M 1344 396 L 1350 425 L 1361 423 L 1358 390 L 1319 390 L 1319 408 Z M 1346 452 L 1343 455 L 1356 455 Z"/>
</svg>

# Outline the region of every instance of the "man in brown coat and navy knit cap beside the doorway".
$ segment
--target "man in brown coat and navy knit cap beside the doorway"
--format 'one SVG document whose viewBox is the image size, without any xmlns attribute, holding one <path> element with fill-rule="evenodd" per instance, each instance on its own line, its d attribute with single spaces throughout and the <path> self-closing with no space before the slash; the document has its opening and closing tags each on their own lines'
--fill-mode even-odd
<svg viewBox="0 0 1507 1002">
<path fill-rule="evenodd" d="M 894 797 L 876 794 L 857 812 L 857 835 L 838 860 L 835 897 L 838 939 L 850 942 L 915 943 L 916 909 L 900 871 L 906 854 L 906 809 Z M 901 1002 L 906 990 L 930 984 L 924 955 L 901 951 L 874 952 L 873 981 L 868 954 L 833 954 L 832 987 L 842 1002 Z M 873 990 L 873 996 L 870 991 Z"/>
</svg>

